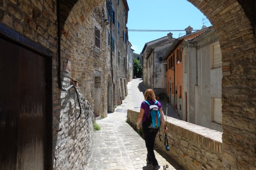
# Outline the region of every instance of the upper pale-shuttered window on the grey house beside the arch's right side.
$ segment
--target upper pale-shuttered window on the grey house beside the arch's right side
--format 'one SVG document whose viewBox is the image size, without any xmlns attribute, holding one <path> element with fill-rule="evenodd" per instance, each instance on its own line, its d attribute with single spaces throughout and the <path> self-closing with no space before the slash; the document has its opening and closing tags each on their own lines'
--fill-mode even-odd
<svg viewBox="0 0 256 170">
<path fill-rule="evenodd" d="M 221 46 L 219 42 L 210 45 L 211 69 L 222 67 Z"/>
</svg>

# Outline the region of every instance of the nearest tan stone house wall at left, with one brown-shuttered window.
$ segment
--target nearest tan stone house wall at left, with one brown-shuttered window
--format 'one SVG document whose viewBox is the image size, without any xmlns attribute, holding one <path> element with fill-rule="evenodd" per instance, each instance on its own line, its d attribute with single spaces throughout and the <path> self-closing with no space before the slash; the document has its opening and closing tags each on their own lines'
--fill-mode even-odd
<svg viewBox="0 0 256 170">
<path fill-rule="evenodd" d="M 108 32 L 103 23 L 106 5 L 97 6 L 77 32 L 72 54 L 72 77 L 79 83 L 80 93 L 89 101 L 94 114 L 106 117 L 108 113 L 107 87 L 111 75 L 110 52 L 107 50 Z M 100 32 L 100 47 L 95 45 L 95 30 Z"/>
</svg>

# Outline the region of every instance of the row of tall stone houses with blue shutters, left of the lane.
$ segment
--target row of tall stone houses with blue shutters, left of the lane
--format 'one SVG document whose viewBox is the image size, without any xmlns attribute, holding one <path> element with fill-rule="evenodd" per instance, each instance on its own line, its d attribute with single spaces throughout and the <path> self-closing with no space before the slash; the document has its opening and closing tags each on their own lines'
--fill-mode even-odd
<svg viewBox="0 0 256 170">
<path fill-rule="evenodd" d="M 106 117 L 127 95 L 127 11 L 126 1 L 108 0 L 90 13 L 77 33 L 72 77 L 96 117 Z"/>
</svg>

